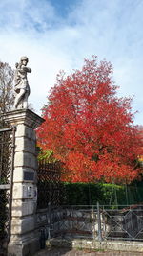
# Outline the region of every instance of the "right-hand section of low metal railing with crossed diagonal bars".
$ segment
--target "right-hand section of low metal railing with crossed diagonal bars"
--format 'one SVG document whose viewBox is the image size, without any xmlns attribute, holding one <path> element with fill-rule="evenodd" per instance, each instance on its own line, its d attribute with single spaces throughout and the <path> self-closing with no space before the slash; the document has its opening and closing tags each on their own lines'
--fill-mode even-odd
<svg viewBox="0 0 143 256">
<path fill-rule="evenodd" d="M 119 208 L 101 207 L 103 238 L 143 241 L 143 205 Z"/>
</svg>

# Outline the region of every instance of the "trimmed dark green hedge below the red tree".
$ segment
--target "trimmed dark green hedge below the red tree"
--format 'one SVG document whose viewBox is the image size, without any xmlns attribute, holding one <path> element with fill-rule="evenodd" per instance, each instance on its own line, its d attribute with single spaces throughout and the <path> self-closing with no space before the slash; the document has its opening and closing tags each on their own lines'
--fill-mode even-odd
<svg viewBox="0 0 143 256">
<path fill-rule="evenodd" d="M 64 184 L 67 205 L 127 205 L 143 202 L 143 183 L 115 185 L 106 183 L 67 183 Z"/>
</svg>

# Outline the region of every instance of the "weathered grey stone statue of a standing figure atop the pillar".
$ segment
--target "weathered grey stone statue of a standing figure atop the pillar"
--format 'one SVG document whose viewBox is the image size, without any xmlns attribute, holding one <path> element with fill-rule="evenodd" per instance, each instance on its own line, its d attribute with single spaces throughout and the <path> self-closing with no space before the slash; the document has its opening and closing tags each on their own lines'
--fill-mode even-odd
<svg viewBox="0 0 143 256">
<path fill-rule="evenodd" d="M 31 73 L 31 68 L 27 67 L 29 58 L 26 56 L 20 58 L 20 62 L 15 64 L 14 74 L 14 91 L 15 101 L 14 108 L 28 108 L 28 97 L 30 95 L 30 86 L 27 79 L 27 73 Z"/>
</svg>

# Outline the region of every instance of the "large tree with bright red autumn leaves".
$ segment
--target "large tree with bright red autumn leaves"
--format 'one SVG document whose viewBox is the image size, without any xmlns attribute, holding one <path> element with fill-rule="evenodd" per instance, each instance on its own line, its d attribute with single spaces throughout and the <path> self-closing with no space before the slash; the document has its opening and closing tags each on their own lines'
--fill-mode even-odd
<svg viewBox="0 0 143 256">
<path fill-rule="evenodd" d="M 40 146 L 64 163 L 64 180 L 131 182 L 141 172 L 132 100 L 117 98 L 116 89 L 111 63 L 95 57 L 81 71 L 57 76 L 37 134 Z"/>
</svg>

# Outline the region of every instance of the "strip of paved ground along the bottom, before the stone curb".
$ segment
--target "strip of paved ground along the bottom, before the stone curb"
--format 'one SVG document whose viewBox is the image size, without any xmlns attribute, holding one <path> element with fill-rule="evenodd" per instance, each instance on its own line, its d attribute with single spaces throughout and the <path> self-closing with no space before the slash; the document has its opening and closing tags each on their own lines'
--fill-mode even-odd
<svg viewBox="0 0 143 256">
<path fill-rule="evenodd" d="M 90 251 L 68 248 L 47 248 L 34 256 L 143 256 L 142 252 Z"/>
</svg>

